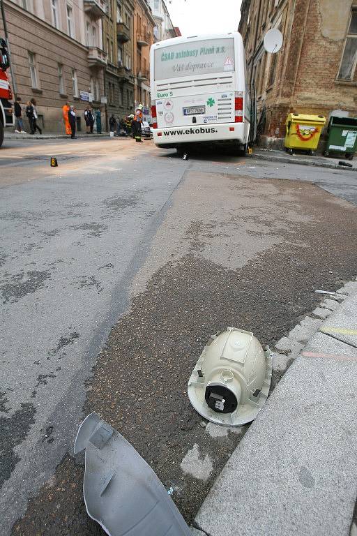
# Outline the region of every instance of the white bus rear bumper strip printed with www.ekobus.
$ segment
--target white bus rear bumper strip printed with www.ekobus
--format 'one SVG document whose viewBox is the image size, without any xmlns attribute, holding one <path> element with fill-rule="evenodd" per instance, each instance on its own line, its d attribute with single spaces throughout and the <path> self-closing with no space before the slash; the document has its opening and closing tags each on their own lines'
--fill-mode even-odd
<svg viewBox="0 0 357 536">
<path fill-rule="evenodd" d="M 236 142 L 248 141 L 248 123 L 220 123 L 216 125 L 194 125 L 172 128 L 155 128 L 153 141 L 158 147 L 177 147 L 183 143 L 196 142 Z"/>
</svg>

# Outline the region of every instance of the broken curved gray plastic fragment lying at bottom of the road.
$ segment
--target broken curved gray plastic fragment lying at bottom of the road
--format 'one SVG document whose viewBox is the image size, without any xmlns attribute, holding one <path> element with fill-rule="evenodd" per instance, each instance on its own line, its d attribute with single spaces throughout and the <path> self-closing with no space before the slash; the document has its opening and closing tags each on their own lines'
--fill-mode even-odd
<svg viewBox="0 0 357 536">
<path fill-rule="evenodd" d="M 109 536 L 191 536 L 155 472 L 96 413 L 79 427 L 75 454 L 84 449 L 86 511 Z"/>
</svg>

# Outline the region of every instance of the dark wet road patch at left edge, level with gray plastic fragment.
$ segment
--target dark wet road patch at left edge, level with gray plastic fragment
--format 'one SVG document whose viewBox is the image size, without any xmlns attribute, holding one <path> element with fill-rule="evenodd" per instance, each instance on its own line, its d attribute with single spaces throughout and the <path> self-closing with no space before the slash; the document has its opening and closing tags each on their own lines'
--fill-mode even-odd
<svg viewBox="0 0 357 536">
<path fill-rule="evenodd" d="M 20 445 L 26 438 L 31 424 L 35 422 L 35 414 L 35 406 L 26 402 L 22 403 L 21 408 L 16 410 L 10 417 L 0 416 L 0 488 L 10 478 L 17 462 L 20 461 L 20 456 L 16 454 L 15 447 Z"/>
</svg>

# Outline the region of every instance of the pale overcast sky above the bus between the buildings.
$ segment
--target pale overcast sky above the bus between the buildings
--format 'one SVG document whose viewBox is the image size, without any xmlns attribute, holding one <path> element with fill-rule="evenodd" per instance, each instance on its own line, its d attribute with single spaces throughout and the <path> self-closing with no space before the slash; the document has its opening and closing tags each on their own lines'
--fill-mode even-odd
<svg viewBox="0 0 357 536">
<path fill-rule="evenodd" d="M 165 0 L 174 26 L 183 36 L 238 29 L 241 0 Z"/>
</svg>

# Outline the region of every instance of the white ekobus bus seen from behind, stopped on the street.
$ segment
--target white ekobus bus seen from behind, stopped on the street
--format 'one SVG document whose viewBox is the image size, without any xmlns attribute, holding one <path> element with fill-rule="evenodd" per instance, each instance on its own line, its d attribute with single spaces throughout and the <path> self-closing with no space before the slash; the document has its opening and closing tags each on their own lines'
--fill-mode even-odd
<svg viewBox="0 0 357 536">
<path fill-rule="evenodd" d="M 179 152 L 192 143 L 245 151 L 250 98 L 243 39 L 231 34 L 177 37 L 150 51 L 153 140 Z"/>
</svg>

